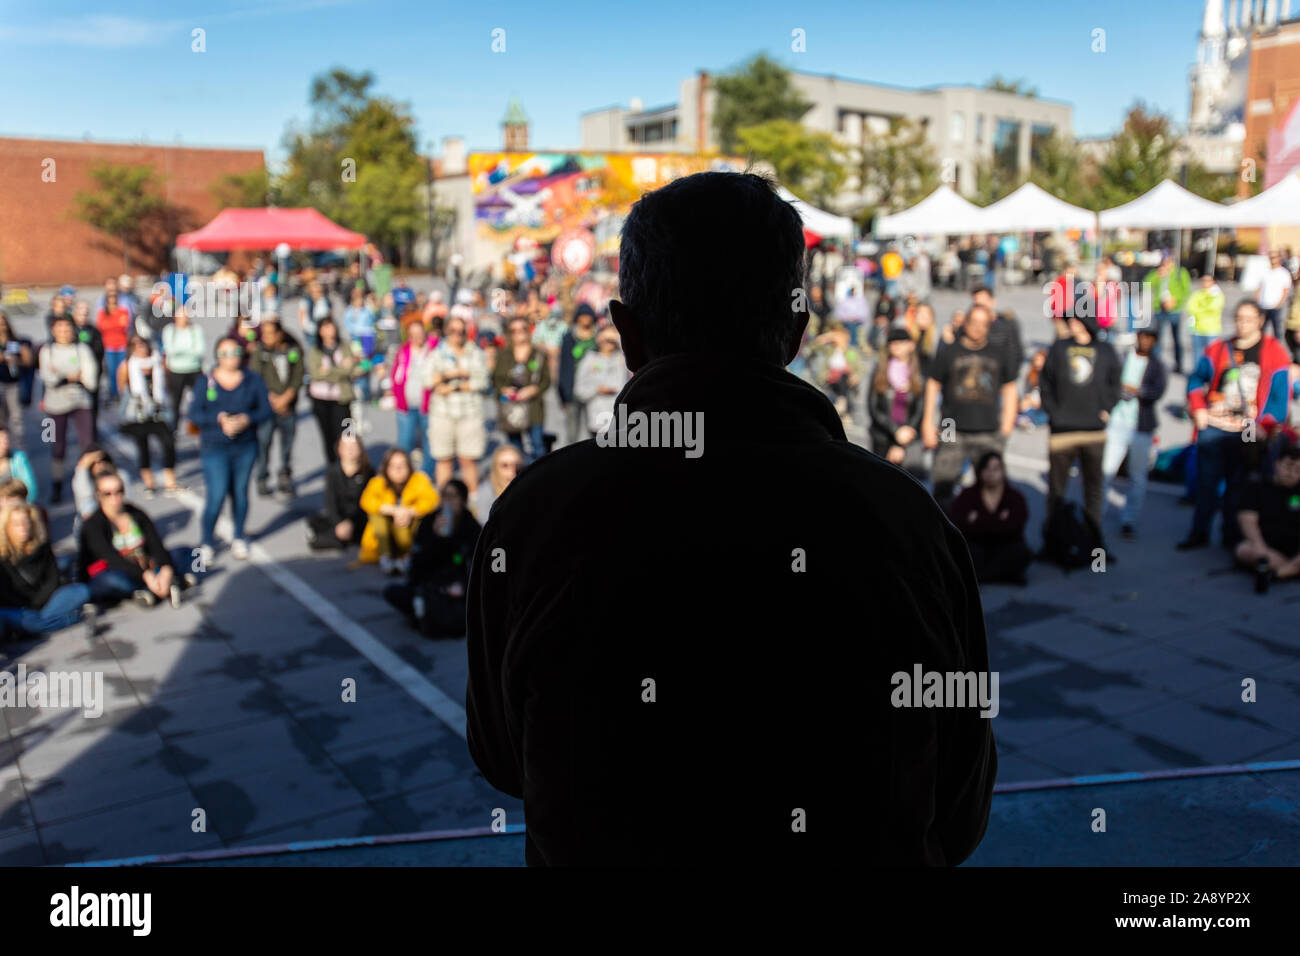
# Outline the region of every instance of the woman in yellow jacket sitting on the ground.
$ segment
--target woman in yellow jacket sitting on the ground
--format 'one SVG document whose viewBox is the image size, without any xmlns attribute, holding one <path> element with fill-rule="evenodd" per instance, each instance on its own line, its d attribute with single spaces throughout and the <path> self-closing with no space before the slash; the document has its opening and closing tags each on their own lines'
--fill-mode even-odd
<svg viewBox="0 0 1300 956">
<path fill-rule="evenodd" d="M 422 471 L 411 470 L 400 447 L 390 447 L 380 473 L 361 492 L 361 510 L 368 515 L 358 562 L 380 562 L 385 574 L 406 572 L 411 542 L 420 519 L 438 507 L 438 490 Z"/>
</svg>

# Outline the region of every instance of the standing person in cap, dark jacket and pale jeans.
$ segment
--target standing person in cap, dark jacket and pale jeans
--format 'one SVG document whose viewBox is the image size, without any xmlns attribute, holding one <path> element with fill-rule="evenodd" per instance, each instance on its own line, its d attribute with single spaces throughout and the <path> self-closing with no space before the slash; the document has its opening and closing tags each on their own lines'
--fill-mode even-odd
<svg viewBox="0 0 1300 956">
<path fill-rule="evenodd" d="M 1124 355 L 1119 372 L 1119 402 L 1110 410 L 1106 421 L 1106 447 L 1101 454 L 1101 473 L 1105 477 L 1102 501 L 1128 458 L 1128 497 L 1119 519 L 1119 535 L 1132 540 L 1138 536 L 1138 520 L 1147 498 L 1147 475 L 1150 471 L 1150 449 L 1160 424 L 1160 399 L 1169 385 L 1169 375 L 1161 362 L 1152 362 L 1152 352 L 1160 339 L 1158 329 L 1147 325 L 1138 329 L 1138 341 Z"/>
</svg>

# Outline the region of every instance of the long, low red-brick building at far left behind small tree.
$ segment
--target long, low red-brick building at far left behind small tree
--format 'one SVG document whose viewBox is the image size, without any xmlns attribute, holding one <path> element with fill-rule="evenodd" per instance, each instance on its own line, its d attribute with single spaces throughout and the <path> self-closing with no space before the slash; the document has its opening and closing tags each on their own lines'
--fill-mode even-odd
<svg viewBox="0 0 1300 956">
<path fill-rule="evenodd" d="M 75 216 L 99 163 L 153 166 L 168 215 L 148 237 L 151 251 L 131 252 L 131 272 L 142 273 L 166 268 L 174 235 L 220 211 L 212 187 L 222 177 L 265 168 L 261 150 L 0 138 L 0 282 L 94 284 L 122 271 L 118 242 Z"/>
</svg>

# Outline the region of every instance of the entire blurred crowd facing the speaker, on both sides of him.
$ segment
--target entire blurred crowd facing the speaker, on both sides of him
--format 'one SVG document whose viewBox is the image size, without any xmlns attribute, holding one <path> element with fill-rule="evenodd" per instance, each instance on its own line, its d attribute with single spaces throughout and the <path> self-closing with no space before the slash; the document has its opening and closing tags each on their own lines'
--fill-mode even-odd
<svg viewBox="0 0 1300 956">
<path fill-rule="evenodd" d="M 824 389 L 845 424 L 864 405 L 872 450 L 931 484 L 966 536 L 982 581 L 1010 583 L 1026 581 L 1035 551 L 1028 507 L 1006 477 L 1008 437 L 1017 428 L 1046 429 L 1040 557 L 1071 536 L 1075 551 L 1106 549 L 1106 493 L 1122 470 L 1128 492 L 1119 529 L 1138 535 L 1160 403 L 1171 375 L 1182 375 L 1196 433 L 1180 459 L 1193 519 L 1179 548 L 1206 545 L 1221 512 L 1225 546 L 1266 588 L 1300 576 L 1288 423 L 1300 359 L 1297 265 L 1290 251 L 1274 254 L 1225 337 L 1225 295 L 1213 276 L 1193 284 L 1166 258 L 1144 278 L 1154 306 L 1143 315 L 1118 291 L 1109 259 L 1089 280 L 1067 261 L 1052 287 L 1056 341 L 1026 362 L 1020 324 L 998 307 L 993 287 L 974 285 L 968 307 L 940 328 L 930 303 L 932 267 L 913 259 L 880 281 L 871 307 L 861 290 L 832 302 L 814 286 L 792 371 Z M 0 313 L 0 622 L 8 630 L 55 630 L 124 598 L 178 605 L 195 581 L 183 568 L 216 561 L 228 501 L 230 555 L 247 558 L 250 489 L 283 501 L 296 493 L 306 399 L 326 457 L 324 507 L 304 523 L 309 548 L 356 549 L 354 564 L 404 579 L 386 596 L 419 627 L 458 632 L 465 568 L 495 498 L 556 441 L 597 434 L 629 378 L 607 299 L 575 302 L 556 278 L 515 277 L 507 287 L 450 295 L 415 293 L 398 280 L 378 294 L 372 274 L 354 263 L 333 284 L 303 282 L 300 338 L 281 320 L 286 299 L 273 265 L 255 264 L 242 281 L 256 290 L 255 308 L 235 316 L 211 350 L 182 299 L 159 291 L 166 286 L 142 298 L 129 276 L 108 280 L 94 306 L 70 286 L 60 290 L 40 345 L 17 336 Z M 563 434 L 546 432 L 551 390 Z M 38 392 L 49 431 L 44 480 L 25 450 L 23 408 Z M 112 411 L 110 425 L 100 421 L 101 408 Z M 364 423 L 389 412 L 396 442 L 376 464 Z M 138 484 L 101 441 L 105 428 L 134 447 Z M 133 488 L 144 499 L 185 490 L 177 480 L 181 429 L 198 437 L 202 466 L 198 562 L 177 561 L 148 515 L 126 501 Z M 40 502 L 46 488 L 49 506 L 62 502 L 73 436 L 77 559 L 58 562 Z M 963 489 L 967 466 L 974 484 Z M 1075 467 L 1082 506 L 1066 493 Z"/>
</svg>

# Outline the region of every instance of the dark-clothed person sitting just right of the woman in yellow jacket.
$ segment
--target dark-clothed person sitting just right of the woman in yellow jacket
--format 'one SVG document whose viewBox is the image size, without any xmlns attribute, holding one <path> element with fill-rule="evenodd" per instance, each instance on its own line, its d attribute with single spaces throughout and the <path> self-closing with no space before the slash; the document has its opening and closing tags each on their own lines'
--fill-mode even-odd
<svg viewBox="0 0 1300 956">
<path fill-rule="evenodd" d="M 442 507 L 416 531 L 406 584 L 384 589 L 384 598 L 429 637 L 465 635 L 469 559 L 482 531 L 468 502 L 464 481 L 451 479 L 442 486 Z"/>
</svg>

